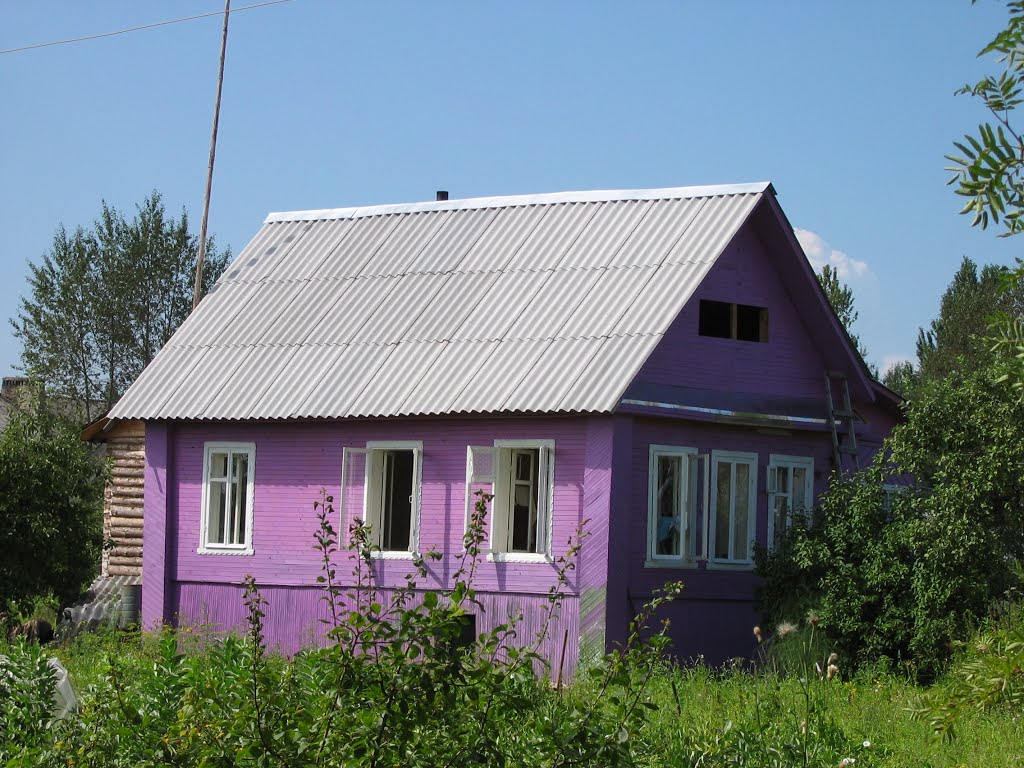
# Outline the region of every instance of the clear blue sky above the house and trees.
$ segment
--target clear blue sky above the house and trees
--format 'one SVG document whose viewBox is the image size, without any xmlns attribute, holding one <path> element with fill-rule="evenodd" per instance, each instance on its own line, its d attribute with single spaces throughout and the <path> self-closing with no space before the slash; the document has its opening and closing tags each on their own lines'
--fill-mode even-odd
<svg viewBox="0 0 1024 768">
<path fill-rule="evenodd" d="M 234 7 L 252 0 L 236 0 Z M 217 0 L 5 3 L 0 49 L 216 11 Z M 980 0 L 292 2 L 232 14 L 210 228 L 240 251 L 270 211 L 770 180 L 812 261 L 855 291 L 883 369 L 974 230 L 943 155 L 984 117 Z M 210 17 L 0 55 L 0 373 L 6 317 L 55 227 L 151 190 L 198 228 L 220 39 Z"/>
</svg>

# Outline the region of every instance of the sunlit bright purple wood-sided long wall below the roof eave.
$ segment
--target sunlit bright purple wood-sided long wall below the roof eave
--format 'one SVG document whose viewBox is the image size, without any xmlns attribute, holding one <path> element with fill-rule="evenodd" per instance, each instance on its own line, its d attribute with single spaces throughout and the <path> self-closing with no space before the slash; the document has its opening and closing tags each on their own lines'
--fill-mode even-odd
<svg viewBox="0 0 1024 768">
<path fill-rule="evenodd" d="M 420 585 L 426 589 L 444 589 L 460 565 L 465 512 L 466 446 L 492 445 L 499 439 L 549 439 L 554 441 L 554 519 L 552 521 L 553 555 L 564 555 L 569 538 L 585 516 L 593 518 L 596 528 L 607 524 L 605 492 L 608 482 L 608 451 L 610 433 L 602 432 L 600 418 L 565 419 L 449 419 L 394 420 L 352 423 L 307 424 L 188 424 L 172 430 L 171 451 L 176 457 L 173 503 L 174 532 L 169 542 L 167 563 L 171 580 L 177 585 L 172 591 L 168 615 L 181 612 L 199 615 L 203 604 L 206 614 L 218 627 L 231 627 L 243 615 L 241 608 L 229 608 L 240 600 L 239 584 L 252 573 L 268 595 L 280 590 L 287 603 L 280 624 L 271 624 L 268 636 L 273 643 L 291 647 L 294 628 L 305 627 L 300 621 L 309 612 L 315 623 L 315 598 L 307 588 L 315 585 L 321 574 L 319 555 L 313 550 L 316 515 L 313 502 L 326 488 L 335 499 L 336 512 L 332 522 L 344 529 L 349 521 L 341 519 L 342 450 L 364 447 L 375 440 L 419 440 L 423 443 L 420 549 L 434 549 L 440 560 L 428 561 L 428 574 Z M 608 419 L 603 421 L 607 422 Z M 254 442 L 256 459 L 253 554 L 199 554 L 200 510 L 203 479 L 203 447 L 207 441 Z M 592 447 L 591 443 L 596 447 Z M 593 466 L 592 466 L 593 465 Z M 588 497 L 588 483 L 596 490 Z M 603 483 L 603 485 L 602 485 Z M 361 488 L 360 488 L 361 495 Z M 589 504 L 588 504 L 589 502 Z M 602 504 L 604 508 L 602 509 Z M 148 514 L 148 509 L 147 509 Z M 597 554 L 606 546 L 607 534 L 585 551 L 594 556 L 588 564 L 588 578 L 600 583 L 603 556 Z M 603 543 L 602 543 L 603 542 Z M 148 545 L 147 545 L 148 546 Z M 351 583 L 354 560 L 345 551 L 336 560 L 339 577 Z M 536 606 L 556 583 L 556 562 L 488 562 L 481 561 L 475 586 L 481 599 L 494 605 L 504 615 L 513 605 Z M 382 559 L 374 563 L 375 579 L 382 588 L 404 584 L 412 570 L 409 560 Z M 148 572 L 148 571 L 147 571 Z M 566 592 L 571 599 L 562 608 L 559 632 L 571 630 L 566 650 L 566 669 L 571 669 L 578 655 L 579 591 L 581 571 L 569 572 Z M 221 589 L 223 588 L 223 589 Z M 304 588 L 304 589 L 300 589 Z M 226 592 L 224 591 L 226 590 Z M 234 602 L 230 602 L 233 600 Z M 205 601 L 205 603 L 203 602 Z M 294 604 L 293 604 L 294 602 Z M 508 603 L 506 605 L 506 602 Z M 535 610 L 534 607 L 529 611 Z M 292 611 L 292 613 L 288 613 Z M 525 628 L 532 633 L 534 614 L 527 611 Z M 554 642 L 554 641 L 552 641 Z M 558 640 L 559 648 L 561 639 Z M 553 651 L 552 651 L 553 652 Z M 560 652 L 560 651 L 559 651 Z M 570 665 L 571 663 L 571 665 Z"/>
</svg>

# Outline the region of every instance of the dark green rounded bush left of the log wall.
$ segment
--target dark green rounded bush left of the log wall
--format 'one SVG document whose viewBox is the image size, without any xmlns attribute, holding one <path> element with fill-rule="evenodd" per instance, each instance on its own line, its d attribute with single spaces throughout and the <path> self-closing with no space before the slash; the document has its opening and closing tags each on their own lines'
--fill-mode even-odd
<svg viewBox="0 0 1024 768">
<path fill-rule="evenodd" d="M 0 432 L 0 609 L 53 593 L 61 604 L 95 574 L 104 468 L 41 392 Z"/>
</svg>

